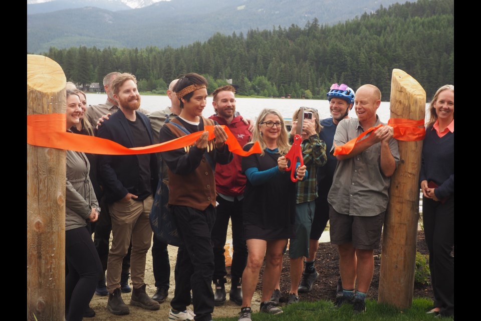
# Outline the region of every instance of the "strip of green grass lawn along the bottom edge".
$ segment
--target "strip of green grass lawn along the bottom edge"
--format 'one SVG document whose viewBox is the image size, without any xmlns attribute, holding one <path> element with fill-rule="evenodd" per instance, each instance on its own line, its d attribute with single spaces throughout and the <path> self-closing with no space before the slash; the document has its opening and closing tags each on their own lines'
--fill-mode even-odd
<svg viewBox="0 0 481 321">
<path fill-rule="evenodd" d="M 344 304 L 340 309 L 335 309 L 334 304 L 328 301 L 300 302 L 283 306 L 284 313 L 269 315 L 253 313 L 254 321 L 292 321 L 292 320 L 363 320 L 363 321 L 394 321 L 394 320 L 434 320 L 434 315 L 426 314 L 432 306 L 432 300 L 415 298 L 412 306 L 406 310 L 398 310 L 386 304 L 379 304 L 374 300 L 366 301 L 367 311 L 354 315 L 352 305 Z M 240 310 L 240 309 L 239 309 Z M 449 318 L 447 318 L 449 319 Z M 215 321 L 235 321 L 237 317 L 215 318 Z"/>
</svg>

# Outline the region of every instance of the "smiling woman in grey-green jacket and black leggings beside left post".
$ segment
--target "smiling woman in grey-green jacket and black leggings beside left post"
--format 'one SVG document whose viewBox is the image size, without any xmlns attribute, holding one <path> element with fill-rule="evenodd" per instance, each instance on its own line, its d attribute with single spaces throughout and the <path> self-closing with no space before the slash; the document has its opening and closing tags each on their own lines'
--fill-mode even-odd
<svg viewBox="0 0 481 321">
<path fill-rule="evenodd" d="M 81 102 L 77 93 L 67 90 L 67 128 L 80 121 Z M 68 131 L 71 131 L 68 129 Z M 65 308 L 67 321 L 82 320 L 95 311 L 89 302 L 102 273 L 102 265 L 87 224 L 99 218 L 100 208 L 89 179 L 90 163 L 83 152 L 67 150 L 65 195 Z"/>
</svg>

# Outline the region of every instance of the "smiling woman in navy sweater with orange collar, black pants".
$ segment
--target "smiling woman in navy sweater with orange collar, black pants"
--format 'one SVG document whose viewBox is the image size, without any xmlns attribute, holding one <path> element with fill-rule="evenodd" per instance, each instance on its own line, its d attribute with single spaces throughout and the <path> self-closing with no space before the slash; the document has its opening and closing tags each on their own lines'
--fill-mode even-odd
<svg viewBox="0 0 481 321">
<path fill-rule="evenodd" d="M 439 88 L 429 104 L 422 146 L 422 221 L 429 250 L 434 307 L 454 316 L 454 86 Z"/>
</svg>

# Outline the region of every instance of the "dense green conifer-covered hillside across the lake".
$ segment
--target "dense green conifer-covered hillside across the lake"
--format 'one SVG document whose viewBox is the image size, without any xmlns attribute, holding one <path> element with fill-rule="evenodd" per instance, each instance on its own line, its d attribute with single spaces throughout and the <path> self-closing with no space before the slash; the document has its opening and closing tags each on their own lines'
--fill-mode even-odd
<svg viewBox="0 0 481 321">
<path fill-rule="evenodd" d="M 240 94 L 319 97 L 333 82 L 357 89 L 377 85 L 389 100 L 391 72 L 399 68 L 424 87 L 427 99 L 443 84 L 454 84 L 454 1 L 419 0 L 381 7 L 334 26 L 317 19 L 303 28 L 249 30 L 213 35 L 181 48 L 51 48 L 69 80 L 101 82 L 111 71 L 131 72 L 141 90 L 165 89 L 181 73 L 232 78 Z"/>
</svg>

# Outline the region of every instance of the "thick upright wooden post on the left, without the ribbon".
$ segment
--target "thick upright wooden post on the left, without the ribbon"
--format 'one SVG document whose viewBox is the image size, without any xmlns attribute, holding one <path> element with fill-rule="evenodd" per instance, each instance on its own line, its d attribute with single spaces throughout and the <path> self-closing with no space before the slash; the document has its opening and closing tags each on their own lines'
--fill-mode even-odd
<svg viewBox="0 0 481 321">
<path fill-rule="evenodd" d="M 65 113 L 65 84 L 59 64 L 27 55 L 27 115 Z M 65 319 L 65 177 L 65 150 L 27 144 L 27 320 Z"/>
</svg>

